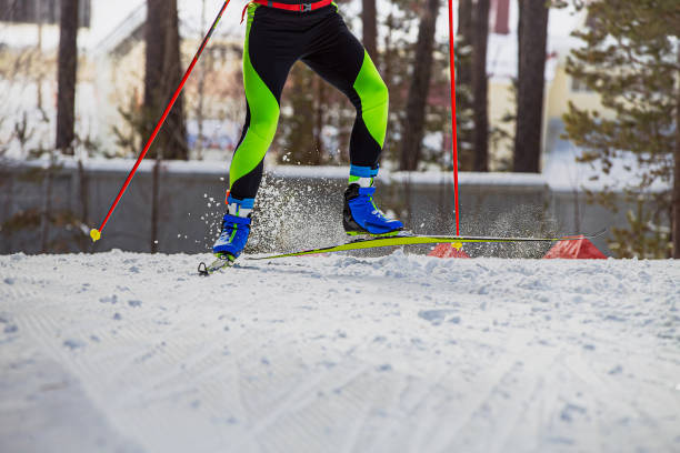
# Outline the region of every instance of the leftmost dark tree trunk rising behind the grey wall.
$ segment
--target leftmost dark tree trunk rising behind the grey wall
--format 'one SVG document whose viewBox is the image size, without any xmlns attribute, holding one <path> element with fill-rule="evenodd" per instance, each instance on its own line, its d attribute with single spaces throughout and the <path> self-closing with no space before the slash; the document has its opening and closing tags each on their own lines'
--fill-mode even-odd
<svg viewBox="0 0 680 453">
<path fill-rule="evenodd" d="M 76 140 L 76 73 L 78 71 L 78 0 L 61 1 L 57 69 L 57 149 L 73 154 Z"/>
</svg>

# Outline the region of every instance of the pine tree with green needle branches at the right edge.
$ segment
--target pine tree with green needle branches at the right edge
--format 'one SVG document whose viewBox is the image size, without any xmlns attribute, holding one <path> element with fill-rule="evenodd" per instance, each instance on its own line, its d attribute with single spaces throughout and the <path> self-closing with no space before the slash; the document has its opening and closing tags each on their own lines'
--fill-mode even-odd
<svg viewBox="0 0 680 453">
<path fill-rule="evenodd" d="M 613 191 L 622 189 L 624 200 L 637 204 L 628 212 L 629 228 L 614 229 L 612 250 L 667 256 L 673 231 L 680 258 L 680 188 L 673 179 L 673 171 L 680 174 L 680 2 L 607 0 L 590 3 L 588 12 L 590 27 L 574 33 L 586 46 L 572 51 L 567 69 L 601 95 L 611 115 L 572 103 L 567 135 L 584 150 L 582 162 L 600 164 L 604 173 L 619 162 L 630 172 L 618 178 L 622 187 L 607 187 L 596 198 L 616 209 Z M 664 226 L 670 223 L 672 230 Z"/>
</svg>

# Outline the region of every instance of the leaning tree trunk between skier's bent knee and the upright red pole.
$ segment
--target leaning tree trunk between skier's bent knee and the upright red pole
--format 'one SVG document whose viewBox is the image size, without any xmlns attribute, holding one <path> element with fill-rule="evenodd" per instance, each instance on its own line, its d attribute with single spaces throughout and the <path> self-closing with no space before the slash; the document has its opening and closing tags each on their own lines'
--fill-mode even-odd
<svg viewBox="0 0 680 453">
<path fill-rule="evenodd" d="M 427 0 L 420 18 L 413 73 L 407 100 L 407 117 L 399 165 L 401 170 L 413 171 L 418 168 L 418 162 L 420 161 L 422 137 L 424 134 L 426 104 L 432 74 L 432 50 L 434 48 L 438 12 L 439 0 Z"/>
</svg>

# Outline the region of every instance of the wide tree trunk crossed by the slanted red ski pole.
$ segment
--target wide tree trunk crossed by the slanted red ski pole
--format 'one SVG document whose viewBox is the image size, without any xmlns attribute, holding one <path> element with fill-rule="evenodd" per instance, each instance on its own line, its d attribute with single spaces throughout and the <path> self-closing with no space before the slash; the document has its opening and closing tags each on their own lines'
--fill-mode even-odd
<svg viewBox="0 0 680 453">
<path fill-rule="evenodd" d="M 177 0 L 147 0 L 147 69 L 144 112 L 149 135 L 181 80 L 179 20 Z M 162 152 L 160 152 L 162 151 Z M 188 159 L 183 97 L 177 100 L 159 133 L 152 155 Z"/>
</svg>

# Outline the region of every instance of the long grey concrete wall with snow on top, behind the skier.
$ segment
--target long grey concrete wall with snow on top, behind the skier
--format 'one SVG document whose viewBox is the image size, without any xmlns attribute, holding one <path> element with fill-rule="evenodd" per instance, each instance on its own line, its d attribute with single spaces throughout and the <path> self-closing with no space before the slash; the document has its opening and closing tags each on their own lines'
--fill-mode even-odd
<svg viewBox="0 0 680 453">
<path fill-rule="evenodd" d="M 0 253 L 39 253 L 47 231 L 50 252 L 99 252 L 111 249 L 150 252 L 152 241 L 164 253 L 209 251 L 223 214 L 227 165 L 211 162 L 161 164 L 159 226 L 151 231 L 153 162 L 143 162 L 107 224 L 102 240 L 92 244 L 98 228 L 118 193 L 131 161 L 100 161 L 78 170 L 67 162 L 56 170 L 49 198 L 44 168 L 39 164 L 0 167 Z M 82 178 L 81 178 L 82 175 Z M 258 195 L 251 251 L 312 248 L 344 240 L 342 191 L 347 169 L 279 167 L 268 173 Z M 448 173 L 382 172 L 377 201 L 413 231 L 454 233 L 453 188 Z M 52 213 L 44 217 L 47 201 Z M 23 215 L 22 215 L 23 213 Z M 33 215 L 27 215 L 33 214 Z M 21 228 L 12 229 L 17 220 Z M 76 220 L 76 221 L 72 221 Z M 82 220 L 82 222 L 80 222 Z M 539 174 L 460 175 L 461 234 L 546 235 L 591 232 L 624 225 L 587 205 L 582 194 L 551 190 Z M 608 251 L 604 238 L 596 241 Z M 478 245 L 474 254 L 540 256 L 548 245 Z"/>
</svg>

